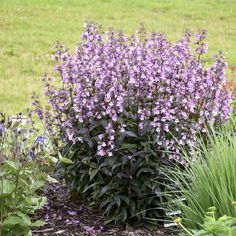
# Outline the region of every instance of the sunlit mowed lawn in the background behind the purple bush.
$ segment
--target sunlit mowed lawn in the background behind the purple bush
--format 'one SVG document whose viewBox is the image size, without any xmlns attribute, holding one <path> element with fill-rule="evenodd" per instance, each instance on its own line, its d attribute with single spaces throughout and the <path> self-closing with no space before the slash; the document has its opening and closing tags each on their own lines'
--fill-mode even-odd
<svg viewBox="0 0 236 236">
<path fill-rule="evenodd" d="M 51 73 L 51 46 L 80 41 L 83 23 L 134 32 L 140 23 L 179 39 L 185 29 L 206 28 L 209 55 L 222 50 L 236 65 L 235 0 L 0 0 L 0 111 L 26 111 L 41 94 L 40 76 Z"/>
</svg>

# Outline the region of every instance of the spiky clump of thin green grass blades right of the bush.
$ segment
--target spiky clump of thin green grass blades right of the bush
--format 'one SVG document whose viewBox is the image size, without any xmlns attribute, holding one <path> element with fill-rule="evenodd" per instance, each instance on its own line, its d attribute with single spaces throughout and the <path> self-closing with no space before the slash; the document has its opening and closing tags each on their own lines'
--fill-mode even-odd
<svg viewBox="0 0 236 236">
<path fill-rule="evenodd" d="M 170 175 L 170 207 L 181 211 L 183 225 L 187 228 L 199 229 L 211 206 L 217 209 L 214 212 L 216 220 L 223 215 L 236 217 L 232 205 L 236 199 L 235 126 L 233 128 L 219 134 L 211 130 L 207 136 L 208 145 L 200 140 L 199 148 L 193 150 L 194 161 L 186 155 L 188 166 L 185 170 L 174 168 Z M 218 223 L 223 219 L 225 217 Z"/>
</svg>

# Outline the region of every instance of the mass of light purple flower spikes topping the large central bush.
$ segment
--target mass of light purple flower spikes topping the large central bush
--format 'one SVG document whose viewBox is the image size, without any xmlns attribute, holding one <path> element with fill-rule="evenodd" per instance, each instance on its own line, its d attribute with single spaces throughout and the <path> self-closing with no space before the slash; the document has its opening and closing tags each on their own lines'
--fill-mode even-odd
<svg viewBox="0 0 236 236">
<path fill-rule="evenodd" d="M 231 113 L 223 55 L 208 68 L 201 62 L 205 35 L 205 30 L 196 35 L 192 52 L 191 32 L 171 44 L 164 34 L 148 34 L 142 27 L 126 37 L 86 23 L 73 54 L 60 43 L 55 46 L 61 86 L 45 77 L 49 105 L 43 110 L 36 98 L 36 111 L 51 136 L 90 146 L 95 140 L 98 156 L 112 156 L 119 137 L 150 130 L 156 149 L 181 161 L 179 144 L 194 145 L 205 125 L 226 122 Z M 129 132 L 131 119 L 135 133 Z M 96 125 L 102 128 L 92 139 Z"/>
</svg>

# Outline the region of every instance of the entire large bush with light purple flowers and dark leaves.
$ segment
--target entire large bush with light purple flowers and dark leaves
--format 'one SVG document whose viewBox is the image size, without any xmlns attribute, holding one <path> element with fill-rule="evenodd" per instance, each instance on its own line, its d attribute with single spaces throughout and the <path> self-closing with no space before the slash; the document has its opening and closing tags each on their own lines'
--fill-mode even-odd
<svg viewBox="0 0 236 236">
<path fill-rule="evenodd" d="M 117 222 L 158 216 L 159 166 L 184 163 L 181 148 L 229 118 L 226 62 L 219 54 L 209 68 L 202 64 L 205 34 L 192 52 L 190 32 L 171 44 L 143 27 L 126 37 L 87 23 L 74 53 L 55 46 L 58 76 L 43 78 L 48 104 L 35 97 L 35 110 L 73 161 L 60 169 L 68 186 Z"/>
</svg>

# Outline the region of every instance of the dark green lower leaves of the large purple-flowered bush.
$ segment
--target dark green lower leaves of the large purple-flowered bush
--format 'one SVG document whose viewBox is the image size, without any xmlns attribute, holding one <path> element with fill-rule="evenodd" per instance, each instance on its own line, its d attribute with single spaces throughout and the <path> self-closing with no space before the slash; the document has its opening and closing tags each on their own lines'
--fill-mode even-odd
<svg viewBox="0 0 236 236">
<path fill-rule="evenodd" d="M 68 144 L 63 156 L 73 164 L 62 164 L 59 172 L 73 194 L 102 208 L 109 221 L 160 218 L 164 179 L 159 169 L 168 162 L 160 156 L 154 132 L 137 134 L 134 120 L 127 123 L 129 129 L 116 137 L 116 150 L 111 157 L 96 155 L 93 140 L 102 127 L 89 127 L 91 145 L 84 142 L 71 149 Z"/>
</svg>

